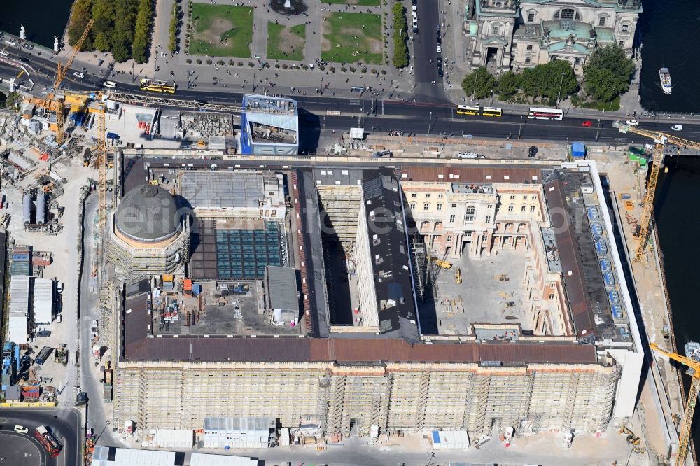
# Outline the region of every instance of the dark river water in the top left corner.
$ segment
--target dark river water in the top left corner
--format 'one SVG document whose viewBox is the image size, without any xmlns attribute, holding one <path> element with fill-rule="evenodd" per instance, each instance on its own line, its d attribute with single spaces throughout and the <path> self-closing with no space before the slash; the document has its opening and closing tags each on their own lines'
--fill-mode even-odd
<svg viewBox="0 0 700 466">
<path fill-rule="evenodd" d="M 73 0 L 3 0 L 0 30 L 20 36 L 24 24 L 27 40 L 53 48 L 53 38 L 59 39 L 68 24 Z"/>
</svg>

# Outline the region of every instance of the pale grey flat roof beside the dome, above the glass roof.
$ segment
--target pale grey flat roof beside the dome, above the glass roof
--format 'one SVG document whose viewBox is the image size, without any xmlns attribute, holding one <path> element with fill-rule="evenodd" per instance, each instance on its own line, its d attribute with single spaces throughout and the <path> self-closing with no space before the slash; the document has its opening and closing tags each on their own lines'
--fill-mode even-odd
<svg viewBox="0 0 700 466">
<path fill-rule="evenodd" d="M 257 171 L 180 171 L 180 193 L 193 209 L 258 209 L 265 198 Z"/>
</svg>

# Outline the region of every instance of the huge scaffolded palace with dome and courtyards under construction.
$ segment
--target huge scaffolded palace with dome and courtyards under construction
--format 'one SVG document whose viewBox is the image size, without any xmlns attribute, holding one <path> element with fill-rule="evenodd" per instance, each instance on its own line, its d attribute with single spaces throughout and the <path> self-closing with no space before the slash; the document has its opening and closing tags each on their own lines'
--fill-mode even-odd
<svg viewBox="0 0 700 466">
<path fill-rule="evenodd" d="M 593 162 L 231 158 L 121 157 L 116 425 L 478 438 L 631 416 L 643 353 Z"/>
</svg>

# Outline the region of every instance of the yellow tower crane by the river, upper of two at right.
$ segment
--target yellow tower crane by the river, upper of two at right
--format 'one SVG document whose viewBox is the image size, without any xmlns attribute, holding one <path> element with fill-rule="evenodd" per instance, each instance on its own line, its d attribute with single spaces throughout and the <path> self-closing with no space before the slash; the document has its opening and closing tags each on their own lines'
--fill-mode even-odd
<svg viewBox="0 0 700 466">
<path fill-rule="evenodd" d="M 644 259 L 644 252 L 646 250 L 647 241 L 649 240 L 652 216 L 654 215 L 654 194 L 656 193 L 656 185 L 659 180 L 659 170 L 661 169 L 661 164 L 664 162 L 664 146 L 666 146 L 666 144 L 672 144 L 673 146 L 680 146 L 682 148 L 700 150 L 700 143 L 682 139 L 673 136 L 673 134 L 654 132 L 648 129 L 641 129 L 634 125 L 626 125 L 620 120 L 612 122 L 612 126 L 619 129 L 621 133 L 633 133 L 653 139 L 656 144 L 654 147 L 652 171 L 649 174 L 647 191 L 644 195 L 642 218 L 640 219 L 639 242 L 637 243 L 637 248 L 632 260 L 632 262 L 640 262 Z"/>
</svg>

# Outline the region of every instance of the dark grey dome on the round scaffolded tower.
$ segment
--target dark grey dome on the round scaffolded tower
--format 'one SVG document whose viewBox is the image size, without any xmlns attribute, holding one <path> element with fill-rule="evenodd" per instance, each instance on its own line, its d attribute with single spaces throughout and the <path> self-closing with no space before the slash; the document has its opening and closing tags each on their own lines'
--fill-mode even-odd
<svg viewBox="0 0 700 466">
<path fill-rule="evenodd" d="M 181 213 L 174 197 L 155 185 L 141 185 L 127 192 L 114 218 L 122 234 L 146 243 L 168 239 L 181 227 Z"/>
</svg>

